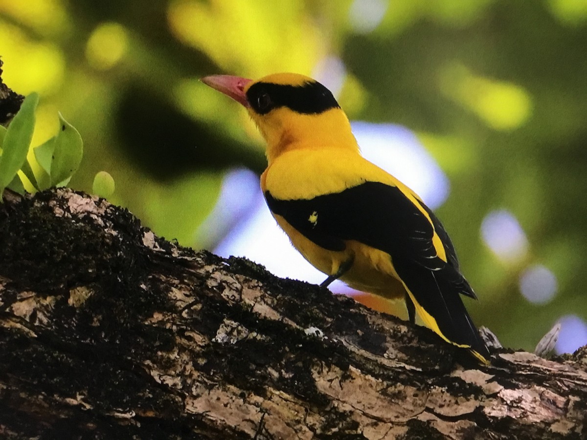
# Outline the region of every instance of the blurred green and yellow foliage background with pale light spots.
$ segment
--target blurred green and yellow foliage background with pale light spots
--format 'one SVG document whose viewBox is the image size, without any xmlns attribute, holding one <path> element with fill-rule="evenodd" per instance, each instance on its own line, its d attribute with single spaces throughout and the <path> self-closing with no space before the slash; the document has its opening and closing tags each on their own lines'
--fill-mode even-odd
<svg viewBox="0 0 587 440">
<path fill-rule="evenodd" d="M 70 186 L 106 170 L 158 235 L 311 282 L 264 206 L 255 127 L 198 78 L 316 77 L 436 209 L 475 323 L 512 348 L 556 322 L 556 351 L 587 344 L 585 0 L 0 0 L 0 56 L 9 87 L 41 93 L 33 145 L 58 111 L 82 134 Z"/>
</svg>

